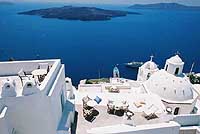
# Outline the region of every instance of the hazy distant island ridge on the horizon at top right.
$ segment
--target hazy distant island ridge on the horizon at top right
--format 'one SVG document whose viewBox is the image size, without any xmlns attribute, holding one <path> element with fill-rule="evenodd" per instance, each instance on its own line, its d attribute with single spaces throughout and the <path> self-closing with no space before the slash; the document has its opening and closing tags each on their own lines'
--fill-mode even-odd
<svg viewBox="0 0 200 134">
<path fill-rule="evenodd" d="M 186 6 L 178 3 L 155 3 L 155 4 L 135 4 L 129 6 L 131 9 L 196 9 L 200 6 Z"/>
</svg>

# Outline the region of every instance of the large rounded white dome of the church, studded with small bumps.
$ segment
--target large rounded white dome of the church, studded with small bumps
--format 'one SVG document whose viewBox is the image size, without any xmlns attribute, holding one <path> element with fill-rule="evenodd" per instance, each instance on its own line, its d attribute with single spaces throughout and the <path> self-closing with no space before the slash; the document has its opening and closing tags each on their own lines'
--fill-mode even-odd
<svg viewBox="0 0 200 134">
<path fill-rule="evenodd" d="M 193 99 L 193 87 L 187 78 L 176 77 L 165 70 L 154 73 L 147 80 L 146 87 L 164 100 L 180 102 Z"/>
</svg>

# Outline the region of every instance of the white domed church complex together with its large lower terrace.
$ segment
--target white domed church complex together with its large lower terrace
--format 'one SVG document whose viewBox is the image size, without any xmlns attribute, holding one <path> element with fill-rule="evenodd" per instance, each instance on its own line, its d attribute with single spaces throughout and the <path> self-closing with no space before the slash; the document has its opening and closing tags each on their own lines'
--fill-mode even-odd
<svg viewBox="0 0 200 134">
<path fill-rule="evenodd" d="M 198 134 L 200 133 L 200 88 L 192 85 L 182 73 L 184 62 L 178 55 L 166 60 L 159 70 L 152 61 L 139 68 L 137 81 L 110 78 L 108 83 L 79 84 L 76 110 L 79 111 L 78 132 L 116 134 Z M 114 92 L 112 92 L 114 91 Z M 116 92 L 117 91 L 117 92 Z M 82 98 L 96 96 L 102 102 L 95 106 L 99 114 L 94 123 L 82 116 Z M 106 114 L 108 102 L 128 102 L 135 116 L 126 120 Z M 156 114 L 158 118 L 145 120 L 144 115 Z M 84 125 L 83 125 L 84 124 Z M 131 124 L 131 125 L 130 125 Z M 134 124 L 134 125 L 133 125 Z"/>
</svg>

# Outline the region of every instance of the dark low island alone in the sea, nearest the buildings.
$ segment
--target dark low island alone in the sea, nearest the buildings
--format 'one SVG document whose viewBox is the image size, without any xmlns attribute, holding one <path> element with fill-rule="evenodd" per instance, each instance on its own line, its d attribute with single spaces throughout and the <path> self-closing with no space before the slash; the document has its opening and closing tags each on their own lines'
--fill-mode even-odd
<svg viewBox="0 0 200 134">
<path fill-rule="evenodd" d="M 80 21 L 100 21 L 110 20 L 114 17 L 123 17 L 127 14 L 140 15 L 136 12 L 120 11 L 120 10 L 106 10 L 96 7 L 54 7 L 39 10 L 31 10 L 20 12 L 18 14 L 24 15 L 38 15 L 42 18 L 57 18 L 62 20 L 80 20 Z"/>
</svg>

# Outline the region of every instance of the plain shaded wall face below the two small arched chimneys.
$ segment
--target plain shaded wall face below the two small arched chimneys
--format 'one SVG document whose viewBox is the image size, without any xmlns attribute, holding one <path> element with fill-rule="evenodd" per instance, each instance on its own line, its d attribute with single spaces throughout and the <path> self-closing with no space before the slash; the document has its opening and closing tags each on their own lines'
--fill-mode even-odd
<svg viewBox="0 0 200 134">
<path fill-rule="evenodd" d="M 16 100 L 17 99 L 17 100 Z M 8 102 L 8 122 L 19 134 L 55 134 L 48 97 L 34 94 Z M 47 129 L 48 128 L 48 129 Z"/>
</svg>

